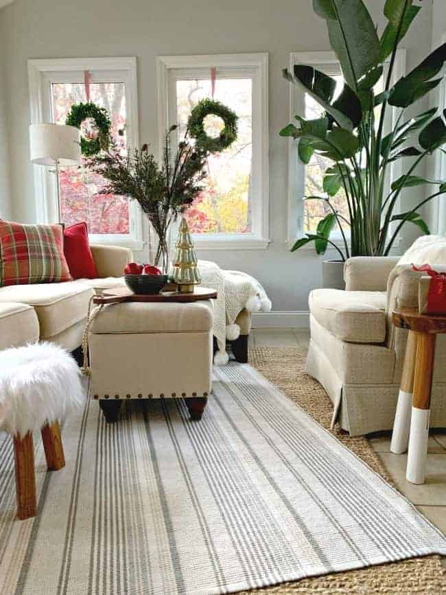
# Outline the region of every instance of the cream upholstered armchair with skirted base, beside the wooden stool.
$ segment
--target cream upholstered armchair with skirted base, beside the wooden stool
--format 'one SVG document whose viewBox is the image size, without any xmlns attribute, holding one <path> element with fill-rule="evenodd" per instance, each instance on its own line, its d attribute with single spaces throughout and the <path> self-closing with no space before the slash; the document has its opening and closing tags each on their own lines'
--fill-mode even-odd
<svg viewBox="0 0 446 595">
<path fill-rule="evenodd" d="M 438 241 L 446 248 L 446 240 Z M 309 296 L 307 373 L 333 402 L 333 423 L 351 436 L 392 428 L 408 336 L 392 325 L 392 310 L 418 305 L 421 274 L 409 263 L 443 258 L 438 250 L 417 252 L 416 244 L 402 259 L 351 258 L 346 291 L 317 289 Z M 430 423 L 446 427 L 446 336 L 437 340 Z"/>
</svg>

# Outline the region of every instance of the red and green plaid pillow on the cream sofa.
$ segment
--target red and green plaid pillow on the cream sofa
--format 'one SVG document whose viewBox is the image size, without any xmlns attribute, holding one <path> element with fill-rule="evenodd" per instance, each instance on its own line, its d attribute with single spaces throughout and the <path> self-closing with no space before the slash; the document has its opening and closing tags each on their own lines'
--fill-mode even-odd
<svg viewBox="0 0 446 595">
<path fill-rule="evenodd" d="M 0 287 L 70 280 L 62 225 L 0 220 Z"/>
</svg>

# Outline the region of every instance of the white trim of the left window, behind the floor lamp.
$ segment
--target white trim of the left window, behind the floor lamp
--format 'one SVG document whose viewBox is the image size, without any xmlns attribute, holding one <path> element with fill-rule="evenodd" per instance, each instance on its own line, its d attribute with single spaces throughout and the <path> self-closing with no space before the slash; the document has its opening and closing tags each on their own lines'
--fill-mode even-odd
<svg viewBox="0 0 446 595">
<path fill-rule="evenodd" d="M 117 71 L 124 71 L 126 82 L 126 106 L 128 119 L 126 132 L 129 139 L 129 150 L 139 147 L 138 129 L 138 97 L 137 97 L 137 59 L 126 58 L 49 58 L 28 60 L 28 78 L 30 84 L 30 117 L 31 124 L 48 121 L 50 73 L 67 73 L 71 71 L 109 71 L 116 77 Z M 123 75 L 119 75 L 119 81 Z M 118 82 L 118 78 L 116 82 Z M 111 80 L 111 78 L 110 78 Z M 56 184 L 54 176 L 47 167 L 34 165 L 34 189 L 36 192 L 36 216 L 40 223 L 56 220 Z M 115 244 L 128 246 L 133 250 L 143 248 L 143 220 L 139 205 L 130 200 L 130 234 L 90 234 L 95 244 Z"/>
</svg>

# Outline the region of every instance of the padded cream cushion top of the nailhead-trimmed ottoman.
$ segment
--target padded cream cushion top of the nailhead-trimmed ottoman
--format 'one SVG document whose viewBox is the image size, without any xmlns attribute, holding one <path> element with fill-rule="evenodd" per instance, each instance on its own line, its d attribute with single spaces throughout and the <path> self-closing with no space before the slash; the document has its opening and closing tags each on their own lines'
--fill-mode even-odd
<svg viewBox="0 0 446 595">
<path fill-rule="evenodd" d="M 210 301 L 192 303 L 128 302 L 104 306 L 93 319 L 93 334 L 197 333 L 213 325 Z"/>
</svg>

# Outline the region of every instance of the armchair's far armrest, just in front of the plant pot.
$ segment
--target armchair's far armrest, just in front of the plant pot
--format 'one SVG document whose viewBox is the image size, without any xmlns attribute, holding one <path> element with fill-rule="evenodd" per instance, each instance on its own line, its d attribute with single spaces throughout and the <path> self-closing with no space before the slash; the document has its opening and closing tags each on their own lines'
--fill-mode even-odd
<svg viewBox="0 0 446 595">
<path fill-rule="evenodd" d="M 355 256 L 344 265 L 345 289 L 347 291 L 386 291 L 390 272 L 399 257 Z"/>
</svg>

